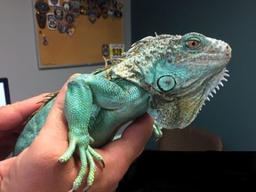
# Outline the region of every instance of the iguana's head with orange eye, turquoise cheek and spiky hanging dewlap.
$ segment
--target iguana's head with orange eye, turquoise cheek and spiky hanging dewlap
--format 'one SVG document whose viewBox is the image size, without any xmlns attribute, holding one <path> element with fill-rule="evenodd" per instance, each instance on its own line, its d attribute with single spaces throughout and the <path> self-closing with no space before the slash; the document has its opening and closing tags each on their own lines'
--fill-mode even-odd
<svg viewBox="0 0 256 192">
<path fill-rule="evenodd" d="M 226 80 L 231 48 L 198 33 L 161 35 L 133 44 L 125 56 L 133 65 L 130 80 L 153 96 L 149 114 L 165 128 L 182 128 Z"/>
</svg>

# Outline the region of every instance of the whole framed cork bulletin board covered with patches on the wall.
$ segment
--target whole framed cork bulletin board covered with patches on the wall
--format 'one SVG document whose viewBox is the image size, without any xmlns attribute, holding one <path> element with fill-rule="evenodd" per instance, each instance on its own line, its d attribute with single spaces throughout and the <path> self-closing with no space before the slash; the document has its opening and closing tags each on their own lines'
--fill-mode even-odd
<svg viewBox="0 0 256 192">
<path fill-rule="evenodd" d="M 124 52 L 121 1 L 32 0 L 32 4 L 39 68 L 99 64 Z"/>
</svg>

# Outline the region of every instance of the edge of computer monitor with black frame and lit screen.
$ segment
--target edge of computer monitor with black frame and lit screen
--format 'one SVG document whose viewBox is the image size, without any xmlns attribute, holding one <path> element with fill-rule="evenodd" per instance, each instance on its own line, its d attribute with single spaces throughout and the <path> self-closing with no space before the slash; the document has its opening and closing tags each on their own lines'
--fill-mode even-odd
<svg viewBox="0 0 256 192">
<path fill-rule="evenodd" d="M 0 107 L 11 104 L 8 79 L 0 78 Z"/>
</svg>

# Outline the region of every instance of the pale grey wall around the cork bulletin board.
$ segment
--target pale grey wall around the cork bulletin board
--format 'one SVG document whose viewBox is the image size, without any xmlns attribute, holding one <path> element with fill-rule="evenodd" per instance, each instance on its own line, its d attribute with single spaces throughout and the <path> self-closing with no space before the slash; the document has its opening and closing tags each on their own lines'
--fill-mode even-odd
<svg viewBox="0 0 256 192">
<path fill-rule="evenodd" d="M 124 8 L 124 42 L 129 47 L 130 0 L 125 0 Z M 90 73 L 102 67 L 38 69 L 33 9 L 32 0 L 1 1 L 0 76 L 9 79 L 12 102 L 42 92 L 55 92 L 72 74 Z"/>
</svg>

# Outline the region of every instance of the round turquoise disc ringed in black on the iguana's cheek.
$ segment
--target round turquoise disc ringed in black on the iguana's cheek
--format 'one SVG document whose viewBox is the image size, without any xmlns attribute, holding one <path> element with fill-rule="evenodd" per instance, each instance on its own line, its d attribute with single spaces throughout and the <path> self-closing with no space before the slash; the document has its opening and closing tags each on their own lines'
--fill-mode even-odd
<svg viewBox="0 0 256 192">
<path fill-rule="evenodd" d="M 157 79 L 156 84 L 160 92 L 170 92 L 175 87 L 176 81 L 173 76 L 164 75 Z"/>
</svg>

